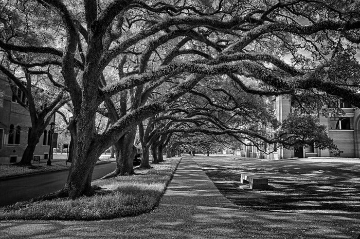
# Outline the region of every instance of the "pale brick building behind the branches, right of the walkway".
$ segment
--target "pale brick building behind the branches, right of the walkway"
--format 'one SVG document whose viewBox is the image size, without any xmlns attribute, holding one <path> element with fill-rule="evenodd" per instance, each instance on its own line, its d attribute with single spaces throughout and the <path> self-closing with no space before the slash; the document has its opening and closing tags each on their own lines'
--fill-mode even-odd
<svg viewBox="0 0 360 239">
<path fill-rule="evenodd" d="M 333 138 L 341 153 L 341 157 L 360 157 L 360 110 L 350 103 L 339 102 L 340 107 L 345 114 L 340 117 L 319 116 L 319 122 L 327 127 L 329 137 Z M 283 122 L 291 112 L 290 97 L 281 95 L 273 98 L 273 110 L 278 121 Z M 272 146 L 264 151 L 271 151 Z M 294 150 L 278 149 L 271 154 L 260 152 L 255 146 L 243 145 L 241 156 L 282 159 L 291 157 L 332 157 L 334 156 L 329 150 L 320 150 L 315 145 L 308 147 L 296 148 Z"/>
</svg>

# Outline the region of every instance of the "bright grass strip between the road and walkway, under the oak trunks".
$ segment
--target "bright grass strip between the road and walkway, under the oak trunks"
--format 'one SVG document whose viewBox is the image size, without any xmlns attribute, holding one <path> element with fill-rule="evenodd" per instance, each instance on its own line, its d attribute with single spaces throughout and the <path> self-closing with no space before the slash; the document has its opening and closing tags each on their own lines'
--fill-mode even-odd
<svg viewBox="0 0 360 239">
<path fill-rule="evenodd" d="M 138 175 L 97 180 L 93 196 L 71 200 L 19 202 L 0 208 L 0 220 L 101 220 L 135 216 L 154 209 L 164 194 L 181 158 L 168 158 L 152 165 L 153 169 L 136 170 Z"/>
</svg>

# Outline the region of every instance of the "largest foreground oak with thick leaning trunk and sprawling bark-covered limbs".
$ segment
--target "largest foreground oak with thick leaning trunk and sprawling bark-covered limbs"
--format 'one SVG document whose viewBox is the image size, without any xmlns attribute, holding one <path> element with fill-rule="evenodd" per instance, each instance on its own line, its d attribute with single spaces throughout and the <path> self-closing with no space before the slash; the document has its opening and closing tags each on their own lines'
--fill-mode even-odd
<svg viewBox="0 0 360 239">
<path fill-rule="evenodd" d="M 57 67 L 74 106 L 69 123 L 76 134 L 75 157 L 61 196 L 91 194 L 98 156 L 143 120 L 167 110 L 206 75 L 231 79 L 248 93 L 316 88 L 360 106 L 356 77 L 334 74 L 338 65 L 329 61 L 329 55 L 346 59 L 341 57 L 341 49 L 346 49 L 352 67 L 357 67 L 355 51 L 348 50 L 360 42 L 357 3 L 9 0 L 1 7 L 6 10 L 0 13 L 1 29 L 11 26 L 15 34 L 2 38 L 0 48 L 9 58 L 37 56 L 18 63 L 28 68 Z M 7 17 L 11 11 L 26 24 Z M 19 29 L 28 31 L 16 34 Z M 33 41 L 44 37 L 44 29 L 51 33 L 46 41 Z M 149 51 L 137 51 L 146 44 Z M 129 74 L 107 74 L 124 55 L 130 56 L 124 64 Z M 131 63 L 135 56 L 138 66 Z M 256 87 L 247 84 L 249 79 Z M 106 99 L 165 82 L 173 84 L 168 92 L 138 105 L 102 134 L 95 132 L 95 115 Z"/>
</svg>

